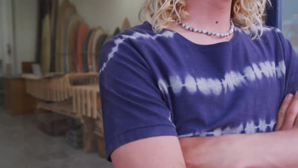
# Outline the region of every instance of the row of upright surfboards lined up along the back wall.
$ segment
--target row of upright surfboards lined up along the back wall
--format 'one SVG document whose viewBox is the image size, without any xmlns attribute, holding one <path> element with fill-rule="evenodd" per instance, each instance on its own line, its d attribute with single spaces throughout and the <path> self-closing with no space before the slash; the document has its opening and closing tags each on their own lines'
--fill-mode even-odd
<svg viewBox="0 0 298 168">
<path fill-rule="evenodd" d="M 51 55 L 51 50 L 49 50 L 51 41 L 47 35 L 51 31 L 49 21 L 48 17 L 43 20 L 42 73 L 50 72 L 50 66 L 55 67 L 55 72 L 97 72 L 98 61 L 105 42 L 130 28 L 127 18 L 121 29 L 116 28 L 111 35 L 106 34 L 100 26 L 91 28 L 77 14 L 75 7 L 68 0 L 64 0 L 58 9 L 55 54 Z"/>
</svg>

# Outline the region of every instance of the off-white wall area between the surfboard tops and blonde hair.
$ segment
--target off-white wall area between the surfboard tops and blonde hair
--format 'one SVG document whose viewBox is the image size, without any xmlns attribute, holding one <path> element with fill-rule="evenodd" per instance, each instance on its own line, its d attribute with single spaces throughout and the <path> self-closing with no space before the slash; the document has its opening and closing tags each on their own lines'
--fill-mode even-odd
<svg viewBox="0 0 298 168">
<path fill-rule="evenodd" d="M 116 27 L 121 27 L 125 17 L 131 26 L 141 24 L 138 13 L 144 0 L 70 0 L 70 2 L 91 27 L 102 26 L 107 33 L 113 33 Z"/>
</svg>

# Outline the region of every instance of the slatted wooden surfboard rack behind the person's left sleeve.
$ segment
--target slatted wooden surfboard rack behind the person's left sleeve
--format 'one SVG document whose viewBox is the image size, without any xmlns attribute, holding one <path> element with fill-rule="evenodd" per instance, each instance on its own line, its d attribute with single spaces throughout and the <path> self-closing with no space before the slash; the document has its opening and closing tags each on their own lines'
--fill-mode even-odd
<svg viewBox="0 0 298 168">
<path fill-rule="evenodd" d="M 84 129 L 84 153 L 97 150 L 98 136 L 104 138 L 98 73 L 23 75 L 26 91 L 39 99 L 37 109 L 80 119 Z"/>
</svg>

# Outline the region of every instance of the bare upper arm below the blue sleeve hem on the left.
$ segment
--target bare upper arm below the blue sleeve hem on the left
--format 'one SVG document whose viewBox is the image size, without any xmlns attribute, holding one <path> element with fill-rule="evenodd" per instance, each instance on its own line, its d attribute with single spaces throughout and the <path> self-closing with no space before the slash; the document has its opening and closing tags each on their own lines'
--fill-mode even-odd
<svg viewBox="0 0 298 168">
<path fill-rule="evenodd" d="M 175 136 L 152 137 L 120 146 L 112 153 L 115 168 L 185 167 L 179 140 Z"/>
</svg>

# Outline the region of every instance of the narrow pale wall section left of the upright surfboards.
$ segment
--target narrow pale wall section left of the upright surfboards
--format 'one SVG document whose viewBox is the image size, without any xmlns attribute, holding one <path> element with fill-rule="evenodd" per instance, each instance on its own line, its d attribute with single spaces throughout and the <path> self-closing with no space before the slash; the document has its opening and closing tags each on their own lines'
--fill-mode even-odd
<svg viewBox="0 0 298 168">
<path fill-rule="evenodd" d="M 34 61 L 38 19 L 37 0 L 14 0 L 17 74 L 23 61 Z"/>
</svg>

